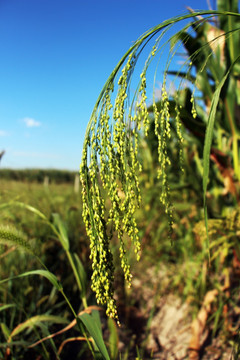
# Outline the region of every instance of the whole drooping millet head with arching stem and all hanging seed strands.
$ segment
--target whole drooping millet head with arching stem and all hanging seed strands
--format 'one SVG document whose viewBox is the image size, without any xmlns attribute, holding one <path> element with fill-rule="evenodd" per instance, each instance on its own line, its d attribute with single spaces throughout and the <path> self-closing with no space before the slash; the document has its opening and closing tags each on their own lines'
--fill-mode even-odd
<svg viewBox="0 0 240 360">
<path fill-rule="evenodd" d="M 113 236 L 119 240 L 121 267 L 127 284 L 131 285 L 131 272 L 127 259 L 129 243 L 134 245 L 137 260 L 140 258 L 141 244 L 135 219 L 135 211 L 141 204 L 139 173 L 141 163 L 138 156 L 140 136 L 148 135 L 149 115 L 147 106 L 147 71 L 152 59 L 158 54 L 162 34 L 174 23 L 194 18 L 198 26 L 198 16 L 211 18 L 222 14 L 218 11 L 195 12 L 172 18 L 154 27 L 140 37 L 120 60 L 106 82 L 93 110 L 86 131 L 80 166 L 82 184 L 83 219 L 90 238 L 92 260 L 92 289 L 99 304 L 106 304 L 108 316 L 118 320 L 114 299 L 114 261 L 110 248 Z M 225 15 L 236 14 L 224 12 Z M 184 27 L 185 31 L 186 27 Z M 130 83 L 136 63 L 143 50 L 152 39 L 151 48 L 143 70 L 139 76 L 133 102 L 130 101 Z M 174 38 L 176 42 L 176 37 Z M 167 41 L 170 43 L 170 40 Z M 171 48 L 172 53 L 174 46 Z M 189 66 L 191 66 L 189 61 Z M 171 121 L 167 89 L 167 70 L 162 80 L 162 106 L 159 109 L 153 101 L 155 135 L 158 139 L 158 177 L 162 191 L 160 201 L 172 225 L 172 205 L 169 197 L 167 168 L 171 165 L 167 144 L 171 136 Z M 120 75 L 119 75 L 120 74 Z M 117 94 L 114 86 L 117 81 Z M 131 106 L 129 106 L 131 104 Z M 192 115 L 196 117 L 196 107 L 192 98 Z M 183 141 L 180 120 L 181 105 L 175 107 L 175 124 L 179 143 Z M 110 200 L 106 206 L 105 196 Z"/>
</svg>

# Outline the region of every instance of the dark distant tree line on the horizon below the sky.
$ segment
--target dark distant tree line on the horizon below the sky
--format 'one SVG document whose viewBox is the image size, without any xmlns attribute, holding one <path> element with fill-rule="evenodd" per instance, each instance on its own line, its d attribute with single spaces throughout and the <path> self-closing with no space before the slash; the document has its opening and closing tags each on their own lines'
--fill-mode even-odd
<svg viewBox="0 0 240 360">
<path fill-rule="evenodd" d="M 15 180 L 24 182 L 42 183 L 45 177 L 49 178 L 49 182 L 59 183 L 73 183 L 76 172 L 68 170 L 54 170 L 54 169 L 1 169 L 0 179 Z"/>
</svg>

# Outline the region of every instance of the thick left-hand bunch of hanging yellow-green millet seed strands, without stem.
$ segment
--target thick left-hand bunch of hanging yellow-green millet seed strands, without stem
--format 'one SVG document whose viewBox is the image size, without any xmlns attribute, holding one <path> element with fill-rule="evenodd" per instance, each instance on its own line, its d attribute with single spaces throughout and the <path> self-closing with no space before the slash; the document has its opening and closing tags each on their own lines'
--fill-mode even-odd
<svg viewBox="0 0 240 360">
<path fill-rule="evenodd" d="M 107 305 L 107 315 L 117 318 L 114 300 L 114 266 L 110 239 L 119 239 L 121 267 L 131 285 L 132 275 L 127 260 L 128 239 L 140 258 L 140 240 L 134 213 L 141 201 L 137 159 L 138 135 L 134 144 L 126 126 L 126 99 L 129 74 L 134 63 L 130 54 L 118 81 L 118 93 L 111 102 L 113 85 L 105 91 L 99 114 L 94 113 L 83 149 L 80 179 L 82 183 L 83 219 L 90 238 L 92 289 L 97 302 Z M 110 116 L 110 114 L 112 116 Z M 112 119 L 112 123 L 110 123 Z M 99 182 L 107 191 L 111 207 L 107 214 Z M 110 229 L 110 230 L 109 230 Z"/>
</svg>

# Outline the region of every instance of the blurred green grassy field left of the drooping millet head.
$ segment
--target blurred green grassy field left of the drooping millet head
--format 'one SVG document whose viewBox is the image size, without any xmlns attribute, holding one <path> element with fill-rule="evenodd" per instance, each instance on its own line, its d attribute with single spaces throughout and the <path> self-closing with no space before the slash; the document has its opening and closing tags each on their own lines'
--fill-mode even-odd
<svg viewBox="0 0 240 360">
<path fill-rule="evenodd" d="M 80 194 L 74 192 L 73 184 L 49 185 L 37 183 L 22 183 L 14 181 L 0 181 L 1 188 L 1 226 L 9 227 L 24 234 L 24 240 L 33 249 L 34 255 L 24 251 L 18 241 L 5 241 L 1 244 L 1 279 L 12 278 L 21 273 L 42 268 L 38 259 L 61 281 L 64 291 L 71 299 L 75 311 L 82 307 L 82 297 L 76 285 L 74 275 L 69 265 L 61 243 L 49 224 L 53 224 L 54 214 L 58 214 L 67 231 L 72 253 L 78 254 L 86 273 L 89 273 L 88 241 L 81 218 Z M 49 221 L 44 221 L 38 214 L 23 208 L 24 203 L 37 209 Z M 37 257 L 36 257 L 36 256 Z M 89 278 L 89 276 L 88 276 Z M 90 282 L 88 281 L 88 287 Z M 89 291 L 89 288 L 87 289 Z M 93 300 L 94 301 L 94 300 Z M 28 349 L 31 343 L 39 338 L 54 333 L 73 320 L 69 308 L 60 293 L 52 287 L 44 277 L 29 276 L 21 279 L 9 280 L 1 285 L 1 358 L 6 358 L 9 353 L 11 359 L 55 358 L 57 347 L 66 336 L 58 336 L 55 341 L 43 343 Z M 38 319 L 31 326 L 26 326 L 19 334 L 10 334 L 19 324 L 34 316 L 54 315 L 56 319 L 41 322 Z M 58 318 L 57 318 L 58 317 Z M 58 324 L 60 322 L 60 325 Z M 61 324 L 62 322 L 62 324 Z M 75 334 L 70 329 L 70 334 Z M 10 344 L 7 344 L 7 341 Z M 84 342 L 82 342 L 84 343 Z M 50 346 L 49 346 L 50 345 Z M 74 349 L 77 350 L 74 350 Z M 80 345 L 84 351 L 84 344 Z M 64 355 L 61 358 L 67 358 Z M 69 349 L 67 350 L 67 353 Z M 73 345 L 70 354 L 81 353 L 79 346 Z M 77 356 L 77 355 L 76 355 Z"/>
</svg>

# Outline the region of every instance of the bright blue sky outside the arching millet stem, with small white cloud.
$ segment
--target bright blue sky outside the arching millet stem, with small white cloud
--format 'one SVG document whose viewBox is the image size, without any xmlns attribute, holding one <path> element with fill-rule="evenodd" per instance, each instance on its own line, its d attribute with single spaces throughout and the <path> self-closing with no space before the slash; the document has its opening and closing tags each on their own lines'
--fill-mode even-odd
<svg viewBox="0 0 240 360">
<path fill-rule="evenodd" d="M 89 117 L 118 60 L 186 6 L 208 8 L 207 0 L 0 0 L 1 167 L 78 171 Z"/>
</svg>

